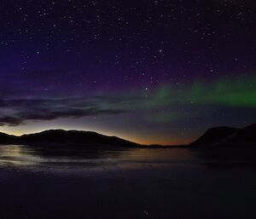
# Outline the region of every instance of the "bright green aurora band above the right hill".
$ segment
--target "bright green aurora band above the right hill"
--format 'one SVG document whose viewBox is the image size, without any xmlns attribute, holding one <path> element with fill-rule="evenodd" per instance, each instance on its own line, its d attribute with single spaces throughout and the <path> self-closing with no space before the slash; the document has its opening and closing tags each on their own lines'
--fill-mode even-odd
<svg viewBox="0 0 256 219">
<path fill-rule="evenodd" d="M 241 79 L 218 79 L 207 83 L 160 86 L 147 106 L 166 107 L 175 104 L 216 105 L 224 107 L 256 107 L 256 77 Z"/>
</svg>

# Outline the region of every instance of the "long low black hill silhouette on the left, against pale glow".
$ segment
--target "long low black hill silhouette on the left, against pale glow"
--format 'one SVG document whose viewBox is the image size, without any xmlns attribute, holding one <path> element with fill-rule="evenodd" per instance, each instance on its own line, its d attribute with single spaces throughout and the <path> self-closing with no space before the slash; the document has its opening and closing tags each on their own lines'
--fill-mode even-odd
<svg viewBox="0 0 256 219">
<path fill-rule="evenodd" d="M 91 131 L 46 130 L 30 135 L 7 135 L 0 133 L 0 144 L 25 144 L 44 147 L 138 147 L 137 143 L 124 139 L 100 135 Z"/>
</svg>

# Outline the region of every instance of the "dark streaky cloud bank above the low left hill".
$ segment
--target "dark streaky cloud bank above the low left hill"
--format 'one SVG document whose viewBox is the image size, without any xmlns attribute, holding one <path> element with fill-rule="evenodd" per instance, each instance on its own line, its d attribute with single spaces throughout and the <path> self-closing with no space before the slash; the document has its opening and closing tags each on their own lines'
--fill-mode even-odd
<svg viewBox="0 0 256 219">
<path fill-rule="evenodd" d="M 15 126 L 27 120 L 52 120 L 56 118 L 80 118 L 127 112 L 114 108 L 121 99 L 101 96 L 55 99 L 0 99 L 0 125 Z"/>
</svg>

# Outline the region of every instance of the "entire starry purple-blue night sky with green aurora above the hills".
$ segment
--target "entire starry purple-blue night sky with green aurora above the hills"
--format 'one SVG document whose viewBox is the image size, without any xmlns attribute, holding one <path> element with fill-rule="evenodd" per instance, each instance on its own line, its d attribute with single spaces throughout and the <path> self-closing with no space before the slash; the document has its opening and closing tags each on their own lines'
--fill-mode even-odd
<svg viewBox="0 0 256 219">
<path fill-rule="evenodd" d="M 253 0 L 3 0 L 0 131 L 185 144 L 256 122 Z"/>
</svg>

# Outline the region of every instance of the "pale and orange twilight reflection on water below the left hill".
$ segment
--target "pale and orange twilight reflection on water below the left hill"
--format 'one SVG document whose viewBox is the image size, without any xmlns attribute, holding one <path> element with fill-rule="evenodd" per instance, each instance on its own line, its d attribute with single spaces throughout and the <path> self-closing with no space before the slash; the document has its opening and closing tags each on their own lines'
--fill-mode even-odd
<svg viewBox="0 0 256 219">
<path fill-rule="evenodd" d="M 52 149 L 23 145 L 0 146 L 0 168 L 11 166 L 30 170 L 117 170 L 156 168 L 185 162 L 183 149 L 123 148 L 120 150 Z"/>
</svg>

